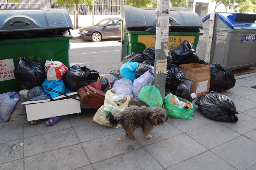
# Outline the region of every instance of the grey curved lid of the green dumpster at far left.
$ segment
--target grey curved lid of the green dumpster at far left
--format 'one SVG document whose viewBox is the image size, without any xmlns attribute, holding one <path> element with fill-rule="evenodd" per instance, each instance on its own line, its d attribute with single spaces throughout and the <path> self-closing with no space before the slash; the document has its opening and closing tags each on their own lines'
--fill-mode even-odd
<svg viewBox="0 0 256 170">
<path fill-rule="evenodd" d="M 0 34 L 73 29 L 64 9 L 0 9 Z"/>
</svg>

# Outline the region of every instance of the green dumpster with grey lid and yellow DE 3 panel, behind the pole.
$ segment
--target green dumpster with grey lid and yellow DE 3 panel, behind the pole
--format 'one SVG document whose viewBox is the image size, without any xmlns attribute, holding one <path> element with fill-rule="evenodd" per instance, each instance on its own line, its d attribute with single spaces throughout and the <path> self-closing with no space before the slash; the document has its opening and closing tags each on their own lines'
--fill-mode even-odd
<svg viewBox="0 0 256 170">
<path fill-rule="evenodd" d="M 157 15 L 154 13 L 155 9 L 121 8 L 121 60 L 129 53 L 155 47 Z M 199 36 L 203 35 L 199 30 L 202 26 L 197 13 L 185 8 L 170 8 L 168 50 L 177 48 L 184 40 L 196 49 Z"/>
</svg>

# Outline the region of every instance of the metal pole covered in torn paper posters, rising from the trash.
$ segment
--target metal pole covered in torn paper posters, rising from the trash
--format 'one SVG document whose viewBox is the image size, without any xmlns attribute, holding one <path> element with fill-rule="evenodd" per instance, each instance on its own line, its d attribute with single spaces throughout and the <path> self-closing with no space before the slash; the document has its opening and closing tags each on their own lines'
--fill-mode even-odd
<svg viewBox="0 0 256 170">
<path fill-rule="evenodd" d="M 169 37 L 170 0 L 157 1 L 157 30 L 155 33 L 154 85 L 164 100 Z"/>
</svg>

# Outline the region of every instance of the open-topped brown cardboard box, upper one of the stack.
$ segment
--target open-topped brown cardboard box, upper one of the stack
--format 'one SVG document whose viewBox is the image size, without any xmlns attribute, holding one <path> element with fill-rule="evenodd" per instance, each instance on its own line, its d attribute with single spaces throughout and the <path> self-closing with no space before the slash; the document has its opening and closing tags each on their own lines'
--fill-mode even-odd
<svg viewBox="0 0 256 170">
<path fill-rule="evenodd" d="M 211 76 L 211 67 L 204 64 L 181 64 L 179 69 L 186 79 L 200 80 Z"/>
</svg>

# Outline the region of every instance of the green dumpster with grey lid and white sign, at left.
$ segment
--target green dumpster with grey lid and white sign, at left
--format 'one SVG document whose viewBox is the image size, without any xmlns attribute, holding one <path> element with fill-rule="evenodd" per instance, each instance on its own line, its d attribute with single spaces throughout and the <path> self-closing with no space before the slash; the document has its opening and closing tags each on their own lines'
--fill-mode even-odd
<svg viewBox="0 0 256 170">
<path fill-rule="evenodd" d="M 69 67 L 69 40 L 73 36 L 66 10 L 26 9 L 26 14 L 24 10 L 0 10 L 0 20 L 6 21 L 0 22 L 0 94 L 21 90 L 13 74 L 19 57 L 43 66 L 46 60 L 55 60 Z"/>
</svg>

